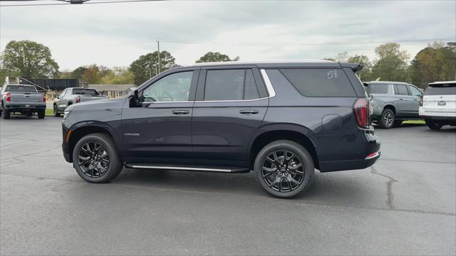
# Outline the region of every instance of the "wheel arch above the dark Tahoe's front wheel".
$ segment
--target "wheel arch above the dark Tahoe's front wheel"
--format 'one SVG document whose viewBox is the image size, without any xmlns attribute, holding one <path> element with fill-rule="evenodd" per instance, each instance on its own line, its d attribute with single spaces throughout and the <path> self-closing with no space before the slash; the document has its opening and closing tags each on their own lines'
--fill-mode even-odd
<svg viewBox="0 0 456 256">
<path fill-rule="evenodd" d="M 114 136 L 113 130 L 107 125 L 99 122 L 84 122 L 84 123 L 79 123 L 73 125 L 71 127 L 71 135 L 68 138 L 68 153 L 70 156 L 70 161 L 73 161 L 73 149 L 74 146 L 76 146 L 76 143 L 78 141 L 88 135 L 88 134 L 95 134 L 95 133 L 102 133 L 102 134 L 108 134 L 113 141 L 115 142 L 115 147 L 119 149 L 119 144 Z M 120 155 L 119 155 L 120 156 Z"/>
</svg>

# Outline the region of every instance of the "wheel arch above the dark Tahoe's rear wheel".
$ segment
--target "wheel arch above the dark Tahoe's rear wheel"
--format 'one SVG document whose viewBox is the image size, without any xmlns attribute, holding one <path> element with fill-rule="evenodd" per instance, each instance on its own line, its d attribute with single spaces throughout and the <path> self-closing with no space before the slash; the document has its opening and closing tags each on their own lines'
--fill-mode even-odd
<svg viewBox="0 0 456 256">
<path fill-rule="evenodd" d="M 249 167 L 252 169 L 254 166 L 255 158 L 259 151 L 271 142 L 279 139 L 289 139 L 293 142 L 299 143 L 301 146 L 309 151 L 314 160 L 314 166 L 319 168 L 318 154 L 316 146 L 311 139 L 312 132 L 307 127 L 302 127 L 296 124 L 269 124 L 261 127 L 256 134 L 252 137 L 249 144 Z"/>
</svg>

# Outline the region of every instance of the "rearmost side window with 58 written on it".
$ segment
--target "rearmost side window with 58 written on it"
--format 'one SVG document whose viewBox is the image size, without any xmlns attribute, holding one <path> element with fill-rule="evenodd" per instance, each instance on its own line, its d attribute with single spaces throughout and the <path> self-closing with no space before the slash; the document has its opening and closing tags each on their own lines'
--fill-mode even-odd
<svg viewBox="0 0 456 256">
<path fill-rule="evenodd" d="M 304 96 L 356 97 L 355 90 L 341 68 L 293 68 L 280 71 Z"/>
</svg>

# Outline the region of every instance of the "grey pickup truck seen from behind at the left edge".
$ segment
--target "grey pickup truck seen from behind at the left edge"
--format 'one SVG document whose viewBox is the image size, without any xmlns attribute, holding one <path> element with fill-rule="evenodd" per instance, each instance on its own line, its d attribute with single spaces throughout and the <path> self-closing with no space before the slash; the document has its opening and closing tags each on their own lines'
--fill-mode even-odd
<svg viewBox="0 0 456 256">
<path fill-rule="evenodd" d="M 0 116 L 9 119 L 14 112 L 26 114 L 28 117 L 37 113 L 38 118 L 43 119 L 46 112 L 46 95 L 38 92 L 34 85 L 4 85 L 1 88 Z"/>
</svg>

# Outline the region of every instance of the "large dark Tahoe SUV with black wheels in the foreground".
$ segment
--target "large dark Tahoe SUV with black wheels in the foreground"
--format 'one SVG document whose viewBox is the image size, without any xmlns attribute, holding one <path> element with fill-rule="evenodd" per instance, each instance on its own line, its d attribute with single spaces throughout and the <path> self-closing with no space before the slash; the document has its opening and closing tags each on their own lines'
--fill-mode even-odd
<svg viewBox="0 0 456 256">
<path fill-rule="evenodd" d="M 63 155 L 93 183 L 123 166 L 253 170 L 267 192 L 296 196 L 314 169 L 364 169 L 380 156 L 360 69 L 326 61 L 172 68 L 128 97 L 69 106 Z"/>
</svg>

